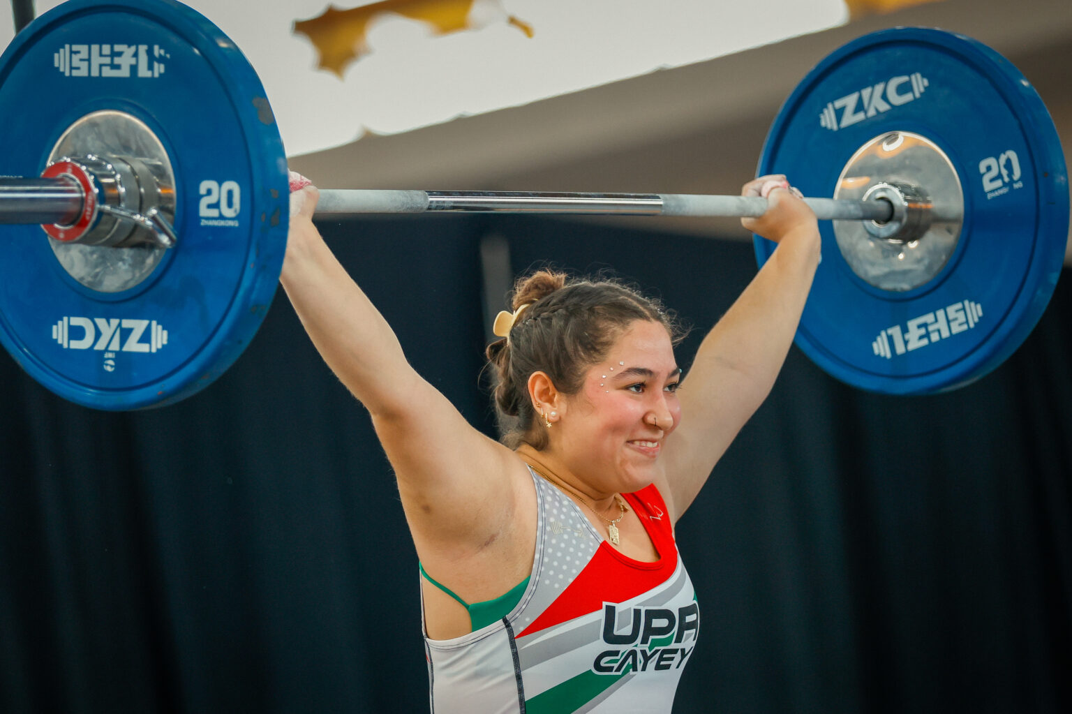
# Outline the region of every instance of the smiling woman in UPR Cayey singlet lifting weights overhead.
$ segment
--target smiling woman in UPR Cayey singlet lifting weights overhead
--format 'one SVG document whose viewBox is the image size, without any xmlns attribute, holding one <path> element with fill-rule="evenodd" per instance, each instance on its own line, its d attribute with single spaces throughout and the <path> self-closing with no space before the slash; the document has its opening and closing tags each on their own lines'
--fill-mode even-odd
<svg viewBox="0 0 1072 714">
<path fill-rule="evenodd" d="M 292 193 L 281 282 L 394 468 L 437 714 L 670 711 L 700 627 L 673 526 L 774 384 L 819 262 L 784 176 L 743 193 L 769 199 L 742 223 L 778 247 L 687 382 L 657 302 L 548 271 L 518 282 L 488 347 L 502 443 L 406 362 L 313 225 L 316 189 Z"/>
</svg>

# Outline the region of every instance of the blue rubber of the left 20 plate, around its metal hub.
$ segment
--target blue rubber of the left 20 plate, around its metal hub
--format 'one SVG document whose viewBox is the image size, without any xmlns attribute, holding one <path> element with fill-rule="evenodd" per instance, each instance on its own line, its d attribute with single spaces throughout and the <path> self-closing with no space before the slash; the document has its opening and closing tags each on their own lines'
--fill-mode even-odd
<svg viewBox="0 0 1072 714">
<path fill-rule="evenodd" d="M 87 115 L 144 122 L 170 160 L 179 235 L 151 274 L 106 293 L 72 278 L 40 227 L 4 226 L 8 351 L 48 389 L 102 410 L 210 384 L 259 327 L 286 244 L 285 153 L 242 54 L 177 2 L 71 0 L 0 58 L 0 172 L 15 176 L 39 176 Z"/>
</svg>

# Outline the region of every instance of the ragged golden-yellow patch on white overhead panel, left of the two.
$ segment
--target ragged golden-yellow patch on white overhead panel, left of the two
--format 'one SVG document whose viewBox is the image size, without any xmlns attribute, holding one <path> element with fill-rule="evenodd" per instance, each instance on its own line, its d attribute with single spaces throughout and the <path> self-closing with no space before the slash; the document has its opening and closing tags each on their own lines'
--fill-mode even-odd
<svg viewBox="0 0 1072 714">
<path fill-rule="evenodd" d="M 351 62 L 368 55 L 369 26 L 383 15 L 401 15 L 431 25 L 435 34 L 475 30 L 479 26 L 470 19 L 475 0 L 382 0 L 369 5 L 339 10 L 330 5 L 323 15 L 294 24 L 295 33 L 304 34 L 319 51 L 317 66 L 342 78 Z M 527 23 L 509 15 L 503 16 L 511 27 L 533 36 Z"/>
</svg>

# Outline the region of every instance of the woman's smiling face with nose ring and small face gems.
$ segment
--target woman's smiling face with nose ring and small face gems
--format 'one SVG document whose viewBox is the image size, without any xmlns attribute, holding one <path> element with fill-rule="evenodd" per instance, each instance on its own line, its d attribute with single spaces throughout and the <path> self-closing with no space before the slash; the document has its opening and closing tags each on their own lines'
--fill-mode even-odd
<svg viewBox="0 0 1072 714">
<path fill-rule="evenodd" d="M 666 327 L 634 322 L 586 371 L 580 391 L 562 396 L 550 448 L 594 490 L 647 486 L 661 475 L 659 455 L 681 419 L 680 381 Z"/>
</svg>

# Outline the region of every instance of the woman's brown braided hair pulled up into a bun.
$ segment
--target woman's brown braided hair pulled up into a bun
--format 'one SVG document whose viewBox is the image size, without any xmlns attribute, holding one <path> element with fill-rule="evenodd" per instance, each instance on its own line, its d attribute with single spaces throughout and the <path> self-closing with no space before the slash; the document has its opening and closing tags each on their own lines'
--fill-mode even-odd
<svg viewBox="0 0 1072 714">
<path fill-rule="evenodd" d="M 536 420 L 528 396 L 534 372 L 547 373 L 559 391 L 576 395 L 584 372 L 607 356 L 635 321 L 659 323 L 674 344 L 684 337 L 657 299 L 612 279 L 571 278 L 541 269 L 519 278 L 511 296 L 512 310 L 528 307 L 518 315 L 509 337 L 485 352 L 501 441 L 510 448 L 521 443 L 537 449 L 547 446 L 547 431 Z"/>
</svg>

